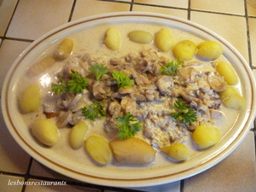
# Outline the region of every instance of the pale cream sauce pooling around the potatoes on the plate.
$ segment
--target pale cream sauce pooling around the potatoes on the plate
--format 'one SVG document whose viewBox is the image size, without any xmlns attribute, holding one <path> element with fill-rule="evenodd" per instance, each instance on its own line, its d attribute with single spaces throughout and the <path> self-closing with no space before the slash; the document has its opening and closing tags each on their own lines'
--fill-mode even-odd
<svg viewBox="0 0 256 192">
<path fill-rule="evenodd" d="M 102 44 L 105 32 L 108 30 L 110 26 L 113 26 L 119 30 L 119 33 L 122 39 L 121 49 L 116 51 L 110 50 Z M 56 74 L 61 71 L 61 67 L 63 67 L 67 63 L 67 61 L 71 60 L 73 57 L 77 55 L 84 55 L 84 53 L 90 53 L 90 55 L 92 55 L 95 58 L 102 57 L 102 59 L 108 60 L 110 58 L 123 57 L 131 53 L 131 51 L 139 52 L 144 49 L 155 49 L 154 42 L 151 44 L 137 44 L 137 43 L 131 42 L 127 38 L 127 34 L 128 32 L 131 32 L 133 30 L 144 30 L 144 29 L 147 29 L 146 31 L 154 34 L 155 32 L 160 31 L 161 28 L 162 26 L 157 26 L 157 25 L 125 23 L 125 24 L 116 24 L 116 25 L 96 26 L 94 28 L 87 29 L 84 32 L 75 33 L 67 37 L 67 38 L 73 39 L 73 42 L 74 42 L 73 54 L 69 58 L 67 58 L 67 60 L 65 61 L 56 62 L 55 66 L 50 67 L 47 72 L 44 72 L 38 75 L 38 77 L 35 77 L 33 79 L 28 79 L 26 76 L 22 77 L 22 79 L 20 80 L 20 82 L 22 83 L 20 84 L 23 86 L 19 86 L 17 91 L 20 92 L 22 91 L 21 87 L 26 87 L 28 84 L 34 84 L 34 82 L 38 82 L 40 87 L 42 87 L 43 96 L 47 94 L 51 94 L 50 83 L 55 82 Z M 178 31 L 177 29 L 171 29 L 171 30 L 172 30 L 172 35 L 175 40 L 175 43 L 183 39 L 189 39 L 193 41 L 195 44 L 199 44 L 202 41 L 201 39 L 193 37 L 186 32 L 181 32 L 181 31 Z M 51 47 L 49 47 L 49 50 L 46 50 L 44 55 L 52 54 L 55 47 L 59 43 L 60 42 L 56 42 Z M 173 55 L 171 51 L 166 53 L 160 52 L 159 55 L 163 55 L 170 59 L 173 59 Z M 40 59 L 41 58 L 38 58 L 38 60 Z M 224 58 L 221 58 L 221 59 L 224 60 Z M 194 58 L 194 60 L 197 61 L 198 58 Z M 198 70 L 204 71 L 210 68 L 208 61 L 202 61 L 202 62 L 205 63 L 206 65 L 205 67 L 202 67 L 202 68 L 198 67 Z M 230 128 L 236 122 L 238 113 L 235 111 L 229 110 L 227 108 L 222 108 L 222 111 L 224 111 L 224 113 L 229 113 L 229 115 L 226 116 L 226 119 L 222 123 L 218 124 L 218 127 L 220 128 L 222 135 L 224 135 L 227 131 L 230 130 Z M 42 118 L 42 117 L 44 117 L 44 114 L 42 113 L 42 111 L 38 112 L 37 115 L 36 113 L 24 115 L 24 119 L 28 127 L 29 125 L 32 124 L 32 122 L 35 119 Z M 97 123 L 90 122 L 90 120 L 86 120 L 86 121 L 89 121 L 88 123 L 91 126 L 91 132 L 89 132 L 88 135 L 90 135 L 91 133 L 97 133 L 97 134 L 102 134 L 103 136 L 106 136 L 109 140 L 113 138 L 113 137 L 109 137 L 109 135 L 106 134 L 103 131 L 103 129 L 99 129 L 99 128 L 97 130 L 93 129 L 93 127 L 102 127 L 103 125 L 102 121 L 99 121 Z M 68 143 L 67 143 L 68 131 L 69 131 L 69 128 L 60 129 L 61 139 L 52 149 L 55 150 L 57 154 L 61 154 L 62 156 L 67 156 L 73 161 L 78 161 L 81 164 L 84 164 L 84 163 L 89 165 L 92 164 L 90 162 L 90 159 L 84 158 L 84 151 L 82 149 L 79 149 L 77 151 L 77 150 L 73 150 L 68 146 Z M 190 139 L 186 143 L 189 146 L 189 150 L 191 151 L 191 154 L 193 157 L 193 154 L 197 153 L 196 148 L 193 144 L 191 144 L 192 142 Z M 65 150 L 63 150 L 63 148 L 65 148 Z M 166 160 L 166 158 L 164 158 L 163 155 L 158 154 L 156 162 L 151 166 L 158 166 L 164 162 L 166 163 L 166 165 L 168 165 L 168 163 L 172 163 L 169 160 Z"/>
</svg>

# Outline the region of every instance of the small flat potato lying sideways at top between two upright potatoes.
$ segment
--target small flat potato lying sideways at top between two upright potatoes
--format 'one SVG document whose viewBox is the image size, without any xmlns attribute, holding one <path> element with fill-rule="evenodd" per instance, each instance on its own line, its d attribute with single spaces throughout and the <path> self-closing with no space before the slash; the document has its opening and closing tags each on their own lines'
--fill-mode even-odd
<svg viewBox="0 0 256 192">
<path fill-rule="evenodd" d="M 153 35 L 150 32 L 135 30 L 128 33 L 128 38 L 139 44 L 149 44 L 153 41 Z"/>
</svg>

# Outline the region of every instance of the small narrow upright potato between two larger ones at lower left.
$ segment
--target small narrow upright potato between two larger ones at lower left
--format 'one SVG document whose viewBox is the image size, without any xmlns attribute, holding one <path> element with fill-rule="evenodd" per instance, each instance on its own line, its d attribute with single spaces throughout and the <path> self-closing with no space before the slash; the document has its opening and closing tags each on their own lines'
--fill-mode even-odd
<svg viewBox="0 0 256 192">
<path fill-rule="evenodd" d="M 84 135 L 88 131 L 88 125 L 81 121 L 79 124 L 74 125 L 69 134 L 69 144 L 71 148 L 81 148 L 84 143 Z"/>
</svg>

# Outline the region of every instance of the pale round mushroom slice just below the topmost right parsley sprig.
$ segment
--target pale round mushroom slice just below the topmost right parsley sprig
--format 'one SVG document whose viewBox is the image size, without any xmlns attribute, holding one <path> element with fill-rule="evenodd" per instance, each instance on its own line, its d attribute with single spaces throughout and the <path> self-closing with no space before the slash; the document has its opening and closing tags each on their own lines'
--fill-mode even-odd
<svg viewBox="0 0 256 192">
<path fill-rule="evenodd" d="M 155 85 L 164 96 L 169 96 L 173 87 L 173 79 L 171 76 L 164 75 L 155 82 Z"/>
</svg>

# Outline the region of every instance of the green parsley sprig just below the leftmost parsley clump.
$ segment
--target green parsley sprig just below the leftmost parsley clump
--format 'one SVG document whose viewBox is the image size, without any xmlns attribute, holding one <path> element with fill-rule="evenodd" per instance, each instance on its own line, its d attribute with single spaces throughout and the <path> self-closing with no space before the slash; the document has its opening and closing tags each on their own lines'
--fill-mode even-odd
<svg viewBox="0 0 256 192">
<path fill-rule="evenodd" d="M 82 113 L 86 119 L 96 120 L 97 117 L 102 118 L 106 116 L 106 110 L 102 102 L 92 102 L 90 106 L 81 108 Z"/>
</svg>

